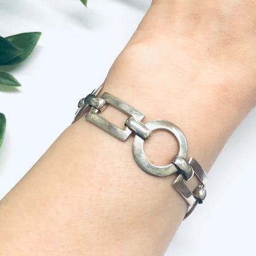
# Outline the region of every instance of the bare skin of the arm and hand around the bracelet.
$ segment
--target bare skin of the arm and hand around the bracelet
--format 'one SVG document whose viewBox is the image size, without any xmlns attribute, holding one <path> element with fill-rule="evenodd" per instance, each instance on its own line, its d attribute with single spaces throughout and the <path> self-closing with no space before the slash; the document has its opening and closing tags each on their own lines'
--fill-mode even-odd
<svg viewBox="0 0 256 256">
<path fill-rule="evenodd" d="M 256 2 L 153 1 L 111 67 L 105 89 L 180 127 L 209 170 L 256 105 Z M 103 116 L 120 121 L 116 110 Z M 124 118 L 121 118 L 124 120 Z M 0 254 L 163 255 L 187 205 L 166 178 L 145 174 L 123 143 L 79 119 L 0 202 Z M 146 154 L 164 165 L 174 138 L 155 132 Z"/>
</svg>

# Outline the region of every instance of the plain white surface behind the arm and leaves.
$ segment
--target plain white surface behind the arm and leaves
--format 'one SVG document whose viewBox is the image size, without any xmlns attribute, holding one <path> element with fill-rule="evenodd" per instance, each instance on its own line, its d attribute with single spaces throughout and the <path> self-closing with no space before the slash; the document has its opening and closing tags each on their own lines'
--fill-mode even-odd
<svg viewBox="0 0 256 256">
<path fill-rule="evenodd" d="M 9 69 L 23 86 L 0 92 L 7 117 L 0 198 L 70 124 L 78 100 L 103 81 L 149 6 L 150 0 L 89 0 L 88 9 L 79 0 L 0 0 L 1 36 L 42 32 L 33 55 Z M 206 202 L 182 223 L 166 256 L 255 255 L 255 127 L 254 109 L 212 167 Z"/>
</svg>

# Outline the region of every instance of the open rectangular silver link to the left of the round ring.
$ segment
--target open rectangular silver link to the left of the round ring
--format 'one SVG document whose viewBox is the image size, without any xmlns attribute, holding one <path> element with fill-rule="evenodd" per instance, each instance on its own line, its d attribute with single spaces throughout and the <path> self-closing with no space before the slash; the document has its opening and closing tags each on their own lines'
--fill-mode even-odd
<svg viewBox="0 0 256 256">
<path fill-rule="evenodd" d="M 102 97 L 106 103 L 113 105 L 118 110 L 127 114 L 127 116 L 134 116 L 138 121 L 142 121 L 145 114 L 136 110 L 132 106 L 128 105 L 126 102 L 119 100 L 119 98 L 114 97 L 111 94 L 105 92 Z M 86 114 L 86 119 L 95 124 L 95 126 L 100 127 L 100 129 L 105 130 L 109 134 L 113 135 L 119 140 L 125 141 L 129 138 L 130 134 L 132 134 L 132 130 L 128 127 L 125 127 L 124 130 L 120 129 L 118 126 L 115 126 L 112 122 L 109 122 L 102 116 L 98 114 L 98 110 L 95 108 L 90 108 L 89 112 Z"/>
</svg>

